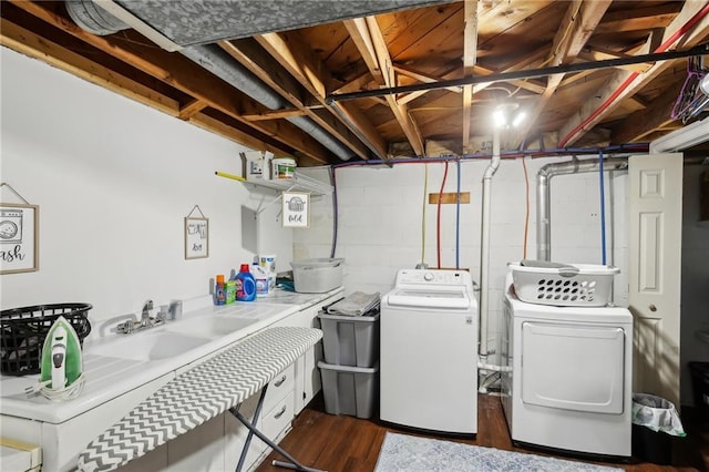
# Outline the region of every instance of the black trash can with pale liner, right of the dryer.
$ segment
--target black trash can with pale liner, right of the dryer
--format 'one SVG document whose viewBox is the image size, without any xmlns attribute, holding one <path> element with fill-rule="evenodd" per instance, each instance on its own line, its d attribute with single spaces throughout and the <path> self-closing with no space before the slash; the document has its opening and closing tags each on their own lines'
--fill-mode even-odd
<svg viewBox="0 0 709 472">
<path fill-rule="evenodd" d="M 633 456 L 659 465 L 672 463 L 672 442 L 684 437 L 672 402 L 648 393 L 633 394 Z"/>
</svg>

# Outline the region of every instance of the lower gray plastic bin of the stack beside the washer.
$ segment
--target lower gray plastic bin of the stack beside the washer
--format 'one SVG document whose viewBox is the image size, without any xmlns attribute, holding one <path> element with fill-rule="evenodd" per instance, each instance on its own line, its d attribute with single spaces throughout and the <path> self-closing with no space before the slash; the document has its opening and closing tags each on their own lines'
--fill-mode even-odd
<svg viewBox="0 0 709 472">
<path fill-rule="evenodd" d="M 322 374 L 325 411 L 371 418 L 379 397 L 379 363 L 374 367 L 332 366 L 318 362 Z"/>
</svg>

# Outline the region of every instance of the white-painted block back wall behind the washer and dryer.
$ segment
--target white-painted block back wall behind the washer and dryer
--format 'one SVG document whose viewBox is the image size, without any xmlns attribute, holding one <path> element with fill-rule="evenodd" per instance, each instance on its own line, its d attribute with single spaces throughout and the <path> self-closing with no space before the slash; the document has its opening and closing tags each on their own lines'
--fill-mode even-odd
<svg viewBox="0 0 709 472">
<path fill-rule="evenodd" d="M 595 157 L 595 156 L 594 156 Z M 536 174 L 547 163 L 568 157 L 526 160 L 530 181 L 527 258 L 536 257 Z M 583 157 L 582 157 L 583 158 Z M 471 193 L 471 204 L 460 211 L 460 267 L 480 283 L 481 195 L 486 160 L 461 163 L 461 191 Z M 326 170 L 308 170 L 327 179 Z M 397 164 L 393 167 L 347 166 L 336 171 L 338 240 L 336 257 L 345 257 L 347 294 L 361 290 L 386 294 L 400 268 L 422 261 L 422 206 L 427 165 Z M 439 193 L 444 164 L 428 164 L 428 192 Z M 607 264 L 620 267 L 614 300 L 627 306 L 625 236 L 625 186 L 627 172 L 606 172 Z M 444 192 L 455 192 L 458 170 L 449 164 Z M 425 199 L 428 202 L 428 197 Z M 600 216 L 598 174 L 558 175 L 551 179 L 552 259 L 577 264 L 600 264 Z M 307 230 L 294 233 L 296 258 L 329 257 L 332 242 L 332 202 L 315 201 L 315 217 Z M 425 256 L 438 266 L 436 205 L 425 205 Z M 441 266 L 455 267 L 455 205 L 442 205 Z M 496 346 L 502 329 L 502 296 L 506 264 L 524 257 L 525 177 L 521 160 L 503 160 L 492 183 L 491 280 L 489 345 Z M 493 360 L 494 361 L 494 360 Z"/>
</svg>

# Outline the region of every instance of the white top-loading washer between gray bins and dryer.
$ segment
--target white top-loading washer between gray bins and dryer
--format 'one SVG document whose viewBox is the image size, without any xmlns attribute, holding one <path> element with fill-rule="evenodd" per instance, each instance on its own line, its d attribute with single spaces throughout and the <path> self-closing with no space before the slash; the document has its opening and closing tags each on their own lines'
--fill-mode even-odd
<svg viewBox="0 0 709 472">
<path fill-rule="evenodd" d="M 467 271 L 399 270 L 381 299 L 381 420 L 477 432 L 477 316 Z"/>
</svg>

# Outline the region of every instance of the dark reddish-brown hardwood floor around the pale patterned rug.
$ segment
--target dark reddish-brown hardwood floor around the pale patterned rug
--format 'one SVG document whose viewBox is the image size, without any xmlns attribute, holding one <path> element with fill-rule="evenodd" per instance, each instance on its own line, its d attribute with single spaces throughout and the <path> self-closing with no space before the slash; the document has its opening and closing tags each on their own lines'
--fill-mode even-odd
<svg viewBox="0 0 709 472">
<path fill-rule="evenodd" d="M 672 465 L 656 465 L 630 459 L 627 462 L 597 462 L 620 468 L 629 472 L 707 471 L 709 466 L 709 425 L 707 422 L 684 420 L 687 437 L 672 440 Z M 378 419 L 362 420 L 343 414 L 325 412 L 322 396 L 316 399 L 295 419 L 292 430 L 280 445 L 302 464 L 329 472 L 373 471 L 379 450 L 387 431 L 425 435 L 405 429 L 391 428 Z M 436 439 L 467 444 L 497 448 L 518 452 L 545 454 L 538 450 L 515 448 L 507 432 L 500 398 L 493 394 L 479 396 L 477 434 L 474 439 L 436 435 Z M 579 460 L 571 456 L 559 459 Z M 271 465 L 280 454 L 271 454 L 259 465 L 258 472 L 280 472 L 285 469 Z M 588 461 L 585 461 L 588 462 Z"/>
</svg>

